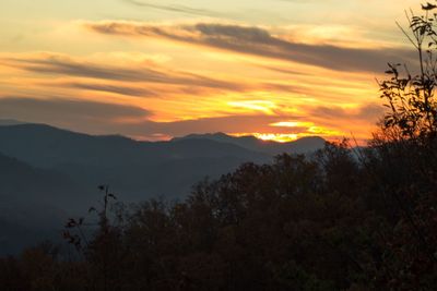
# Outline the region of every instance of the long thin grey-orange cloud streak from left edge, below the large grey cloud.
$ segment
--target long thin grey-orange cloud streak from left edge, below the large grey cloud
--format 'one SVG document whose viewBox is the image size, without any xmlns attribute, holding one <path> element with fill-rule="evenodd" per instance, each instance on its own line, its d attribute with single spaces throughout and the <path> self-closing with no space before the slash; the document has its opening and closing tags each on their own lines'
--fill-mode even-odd
<svg viewBox="0 0 437 291">
<path fill-rule="evenodd" d="M 0 58 L 2 65 L 43 75 L 60 75 L 71 81 L 45 81 L 36 85 L 118 94 L 132 97 L 161 98 L 168 94 L 208 95 L 221 92 L 281 92 L 305 94 L 305 88 L 277 82 L 224 81 L 191 72 L 143 68 L 138 63 L 107 65 L 62 54 L 36 53 Z M 157 66 L 156 64 L 150 64 Z M 133 68 L 133 69 L 132 69 Z M 90 78 L 90 80 L 84 80 Z M 145 84 L 147 83 L 147 84 Z M 147 88 L 144 88 L 147 86 Z"/>
</svg>

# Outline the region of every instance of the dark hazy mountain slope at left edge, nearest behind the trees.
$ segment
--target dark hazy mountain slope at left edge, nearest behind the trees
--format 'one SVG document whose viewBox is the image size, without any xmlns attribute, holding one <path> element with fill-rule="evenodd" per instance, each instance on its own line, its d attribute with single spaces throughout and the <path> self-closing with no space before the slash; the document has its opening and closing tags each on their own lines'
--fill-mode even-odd
<svg viewBox="0 0 437 291">
<path fill-rule="evenodd" d="M 81 193 L 85 194 L 60 173 L 0 154 L 0 255 L 38 240 L 59 240 L 62 222 L 74 206 L 81 207 L 74 204 Z"/>
</svg>

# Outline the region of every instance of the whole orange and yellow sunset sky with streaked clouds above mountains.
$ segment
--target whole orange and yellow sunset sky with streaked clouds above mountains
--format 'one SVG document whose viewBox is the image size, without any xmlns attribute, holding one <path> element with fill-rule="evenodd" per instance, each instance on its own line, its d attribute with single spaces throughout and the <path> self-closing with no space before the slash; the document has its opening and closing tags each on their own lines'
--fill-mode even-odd
<svg viewBox="0 0 437 291">
<path fill-rule="evenodd" d="M 160 141 L 371 137 L 417 0 L 1 0 L 0 119 Z"/>
</svg>

